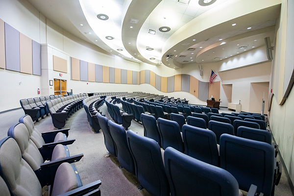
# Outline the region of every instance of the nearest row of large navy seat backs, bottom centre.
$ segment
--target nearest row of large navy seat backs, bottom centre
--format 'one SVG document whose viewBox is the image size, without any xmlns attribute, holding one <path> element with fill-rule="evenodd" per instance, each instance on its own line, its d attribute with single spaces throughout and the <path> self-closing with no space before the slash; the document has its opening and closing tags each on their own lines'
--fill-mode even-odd
<svg viewBox="0 0 294 196">
<path fill-rule="evenodd" d="M 141 185 L 151 195 L 175 196 L 193 193 L 203 196 L 238 196 L 239 186 L 240 188 L 241 185 L 244 186 L 242 189 L 248 191 L 247 182 L 251 180 L 259 185 L 255 187 L 253 195 L 258 187 L 259 191 L 264 191 L 266 194 L 268 189 L 271 189 L 272 184 L 268 185 L 267 180 L 260 182 L 259 177 L 254 179 L 256 175 L 252 178 L 252 172 L 251 178 L 246 178 L 246 183 L 243 185 L 238 178 L 222 168 L 182 154 L 172 147 L 163 150 L 153 139 L 139 136 L 131 130 L 125 131 L 122 125 L 101 115 L 97 117 L 107 150 L 118 158 L 126 171 L 137 176 Z M 268 156 L 270 155 L 267 155 L 267 158 Z M 264 159 L 260 160 L 263 161 Z M 273 176 L 273 173 L 271 174 Z M 251 191 L 248 196 L 251 196 Z"/>
</svg>

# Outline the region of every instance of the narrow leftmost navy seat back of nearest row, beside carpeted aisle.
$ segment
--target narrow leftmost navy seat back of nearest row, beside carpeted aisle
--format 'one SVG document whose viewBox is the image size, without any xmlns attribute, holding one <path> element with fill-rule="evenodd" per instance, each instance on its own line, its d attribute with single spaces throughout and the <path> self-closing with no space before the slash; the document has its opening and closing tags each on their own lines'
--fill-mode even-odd
<svg viewBox="0 0 294 196">
<path fill-rule="evenodd" d="M 112 138 L 110 131 L 109 131 L 109 128 L 108 128 L 108 119 L 106 117 L 103 117 L 102 115 L 100 115 L 99 112 L 96 114 L 96 117 L 98 119 L 100 128 L 101 128 L 103 136 L 104 136 L 104 144 L 105 144 L 106 149 L 112 155 L 117 156 L 116 146 L 115 146 L 115 143 L 113 141 L 113 138 Z"/>
</svg>

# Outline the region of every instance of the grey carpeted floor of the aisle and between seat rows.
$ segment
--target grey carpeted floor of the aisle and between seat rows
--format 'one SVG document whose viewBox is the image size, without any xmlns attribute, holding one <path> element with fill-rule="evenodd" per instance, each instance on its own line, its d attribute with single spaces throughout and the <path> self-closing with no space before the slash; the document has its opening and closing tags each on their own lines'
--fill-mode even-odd
<svg viewBox="0 0 294 196">
<path fill-rule="evenodd" d="M 118 105 L 121 107 L 121 104 Z M 99 109 L 103 114 L 106 114 L 108 119 L 111 119 L 105 104 Z M 221 109 L 221 112 L 230 111 Z M 14 123 L 18 123 L 19 118 L 23 115 L 24 111 L 22 109 L 0 114 L 0 139 L 7 136 L 9 127 Z M 50 117 L 45 117 L 45 119 L 35 123 L 35 126 L 40 132 L 55 129 Z M 112 155 L 109 156 L 104 145 L 103 133 L 94 133 L 92 131 L 83 108 L 68 119 L 65 127 L 71 128 L 69 139 L 76 140 L 73 145 L 68 146 L 71 155 L 84 154 L 84 157 L 79 162 L 74 163 L 83 184 L 101 180 L 100 190 L 101 195 L 104 196 L 150 195 L 145 189 L 139 190 L 137 188 L 140 183 L 136 176 L 126 172 L 124 169 L 120 169 L 117 158 Z M 129 129 L 144 135 L 143 125 L 134 120 Z M 280 183 L 275 187 L 275 196 L 293 196 L 283 167 L 282 170 Z"/>
</svg>

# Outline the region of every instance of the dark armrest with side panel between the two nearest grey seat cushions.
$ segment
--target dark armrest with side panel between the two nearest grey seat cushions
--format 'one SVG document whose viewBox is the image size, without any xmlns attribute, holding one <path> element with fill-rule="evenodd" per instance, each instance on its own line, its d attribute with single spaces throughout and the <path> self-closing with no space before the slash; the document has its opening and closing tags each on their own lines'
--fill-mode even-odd
<svg viewBox="0 0 294 196">
<path fill-rule="evenodd" d="M 79 161 L 84 155 L 83 154 L 78 154 L 75 156 L 59 159 L 56 161 L 50 161 L 48 163 L 43 163 L 41 164 L 41 167 L 38 170 L 35 170 L 35 174 L 38 177 L 41 186 L 45 185 L 52 185 L 54 178 L 55 178 L 55 173 L 58 169 L 58 167 L 64 163 L 73 163 L 76 161 Z"/>
</svg>

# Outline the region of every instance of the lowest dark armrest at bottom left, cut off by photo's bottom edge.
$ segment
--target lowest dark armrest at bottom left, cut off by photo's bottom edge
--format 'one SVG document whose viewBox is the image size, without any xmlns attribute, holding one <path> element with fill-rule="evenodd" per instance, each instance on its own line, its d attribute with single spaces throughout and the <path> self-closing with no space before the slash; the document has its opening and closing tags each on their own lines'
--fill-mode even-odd
<svg viewBox="0 0 294 196">
<path fill-rule="evenodd" d="M 98 189 L 101 185 L 101 181 L 97 180 L 95 182 L 89 183 L 82 187 L 73 189 L 67 193 L 61 194 L 59 196 L 100 196 L 100 190 Z"/>
</svg>

